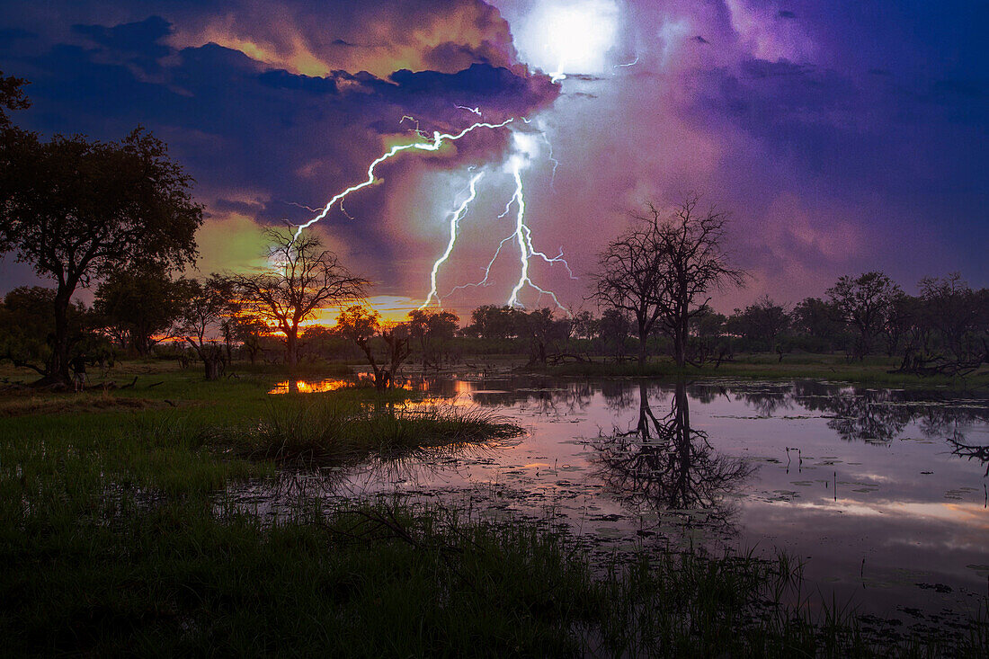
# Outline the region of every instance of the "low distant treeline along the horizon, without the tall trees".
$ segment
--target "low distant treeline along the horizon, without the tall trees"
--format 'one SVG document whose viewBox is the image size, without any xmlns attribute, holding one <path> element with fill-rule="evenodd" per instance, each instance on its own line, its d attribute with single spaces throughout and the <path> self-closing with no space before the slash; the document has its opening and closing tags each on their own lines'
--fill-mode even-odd
<svg viewBox="0 0 989 659">
<path fill-rule="evenodd" d="M 73 352 L 94 362 L 122 355 L 196 359 L 181 338 L 190 318 L 202 313 L 201 284 L 171 279 L 165 273 L 134 270 L 109 277 L 96 289 L 94 304 L 74 303 L 69 325 Z M 690 363 L 717 363 L 737 353 L 843 352 L 850 359 L 869 354 L 897 356 L 900 369 L 918 374 L 954 374 L 977 368 L 989 353 L 989 289 L 972 289 L 958 274 L 926 278 L 920 294 L 908 295 L 878 272 L 842 277 L 823 297 L 795 305 L 768 296 L 725 316 L 704 307 L 690 320 Z M 53 335 L 51 305 L 55 291 L 17 288 L 0 307 L 0 346 L 14 363 L 44 370 Z M 225 365 L 233 359 L 286 362 L 285 336 L 229 300 L 204 343 Z M 357 314 L 357 316 L 355 316 Z M 404 323 L 382 324 L 374 312 L 352 307 L 336 327 L 301 329 L 297 360 L 365 359 L 391 363 L 398 343 L 406 358 L 439 368 L 475 357 L 508 356 L 531 363 L 608 358 L 622 361 L 640 352 L 633 322 L 619 310 L 573 316 L 550 309 L 478 307 L 465 319 L 450 312 L 415 311 Z M 365 327 L 361 327 L 361 324 Z M 383 333 L 385 332 L 385 333 Z M 387 334 L 387 335 L 386 335 Z M 363 339 L 363 340 L 362 340 Z M 671 341 L 660 331 L 647 338 L 646 352 L 667 354 Z"/>
</svg>

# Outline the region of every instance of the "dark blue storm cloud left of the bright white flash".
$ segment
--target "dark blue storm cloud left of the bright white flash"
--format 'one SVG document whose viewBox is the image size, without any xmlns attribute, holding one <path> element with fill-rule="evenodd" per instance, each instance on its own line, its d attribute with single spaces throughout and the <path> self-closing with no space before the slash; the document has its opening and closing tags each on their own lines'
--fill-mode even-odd
<svg viewBox="0 0 989 659">
<path fill-rule="evenodd" d="M 421 13 L 416 21 L 427 22 Z M 269 223 L 308 219 L 309 211 L 287 202 L 321 206 L 361 180 L 383 141 L 412 129 L 402 122 L 406 115 L 427 133 L 455 132 L 477 120 L 456 105 L 480 107 L 486 121 L 500 122 L 544 108 L 559 94 L 547 76 L 504 55 L 499 59 L 507 66 L 494 63 L 484 54 L 491 47 L 444 45 L 424 53 L 428 60 L 443 48 L 456 49 L 464 66 L 452 72 L 308 76 L 217 44 L 177 48 L 170 45 L 174 33 L 156 16 L 116 26 L 78 24 L 75 45 L 25 53 L 3 42 L 0 66 L 13 74 L 44 71 L 30 90 L 35 108 L 23 117 L 31 128 L 119 139 L 142 124 L 167 141 L 197 179 L 209 214 Z M 382 168 L 384 184 L 348 201 L 348 213 L 360 222 L 336 212 L 326 222 L 355 251 L 376 244 L 376 255 L 387 259 L 392 241 L 381 235 L 379 222 L 390 186 L 422 167 L 497 161 L 507 140 L 505 131 L 478 132 L 452 151 L 397 159 Z"/>
</svg>

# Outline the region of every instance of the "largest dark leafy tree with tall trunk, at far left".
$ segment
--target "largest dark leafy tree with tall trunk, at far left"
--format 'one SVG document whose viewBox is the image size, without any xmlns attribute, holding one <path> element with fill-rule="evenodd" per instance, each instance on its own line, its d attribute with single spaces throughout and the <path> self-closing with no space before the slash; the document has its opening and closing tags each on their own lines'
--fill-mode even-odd
<svg viewBox="0 0 989 659">
<path fill-rule="evenodd" d="M 119 142 L 17 133 L 0 153 L 0 245 L 55 281 L 43 382 L 67 382 L 76 289 L 128 264 L 192 262 L 202 208 L 189 193 L 192 179 L 141 128 Z"/>
</svg>

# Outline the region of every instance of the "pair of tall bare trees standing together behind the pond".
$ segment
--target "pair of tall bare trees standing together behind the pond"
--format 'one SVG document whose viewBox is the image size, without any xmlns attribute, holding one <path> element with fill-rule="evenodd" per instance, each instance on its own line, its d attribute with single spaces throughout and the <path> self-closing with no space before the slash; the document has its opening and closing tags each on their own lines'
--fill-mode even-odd
<svg viewBox="0 0 989 659">
<path fill-rule="evenodd" d="M 645 214 L 633 216 L 636 226 L 599 257 L 593 297 L 635 319 L 640 362 L 648 357 L 646 339 L 657 330 L 673 340 L 677 366 L 685 364 L 691 319 L 705 313 L 709 293 L 745 281 L 722 246 L 728 214 L 714 207 L 699 213 L 698 203 L 687 197 L 668 220 L 647 204 Z"/>
</svg>

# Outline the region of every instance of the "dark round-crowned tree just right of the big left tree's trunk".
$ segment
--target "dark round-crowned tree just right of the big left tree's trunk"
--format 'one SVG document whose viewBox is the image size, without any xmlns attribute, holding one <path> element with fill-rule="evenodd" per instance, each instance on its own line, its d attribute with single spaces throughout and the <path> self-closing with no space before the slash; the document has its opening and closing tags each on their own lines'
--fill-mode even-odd
<svg viewBox="0 0 989 659">
<path fill-rule="evenodd" d="M 96 287 L 94 308 L 127 347 L 146 356 L 178 320 L 186 286 L 155 264 L 115 270 Z"/>
</svg>

